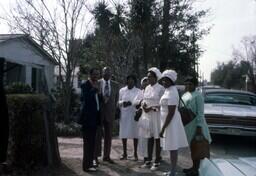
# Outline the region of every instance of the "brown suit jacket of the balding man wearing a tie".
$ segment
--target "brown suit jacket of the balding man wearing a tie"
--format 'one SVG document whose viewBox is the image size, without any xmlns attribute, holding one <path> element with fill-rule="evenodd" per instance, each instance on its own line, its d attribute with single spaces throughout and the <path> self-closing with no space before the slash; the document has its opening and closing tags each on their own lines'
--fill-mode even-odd
<svg viewBox="0 0 256 176">
<path fill-rule="evenodd" d="M 103 79 L 99 80 L 100 83 L 100 91 L 103 94 Z M 118 103 L 118 95 L 119 95 L 119 85 L 117 82 L 110 80 L 111 92 L 110 97 L 107 103 L 102 102 L 101 104 L 101 120 L 106 120 L 107 122 L 113 122 L 115 119 L 116 107 Z"/>
</svg>

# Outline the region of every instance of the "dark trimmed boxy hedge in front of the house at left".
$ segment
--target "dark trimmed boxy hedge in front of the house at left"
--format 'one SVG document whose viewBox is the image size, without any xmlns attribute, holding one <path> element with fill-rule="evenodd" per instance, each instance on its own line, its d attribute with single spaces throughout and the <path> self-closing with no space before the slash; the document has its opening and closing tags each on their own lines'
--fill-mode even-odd
<svg viewBox="0 0 256 176">
<path fill-rule="evenodd" d="M 10 118 L 9 160 L 18 167 L 47 163 L 44 112 L 48 99 L 36 94 L 7 96 Z"/>
</svg>

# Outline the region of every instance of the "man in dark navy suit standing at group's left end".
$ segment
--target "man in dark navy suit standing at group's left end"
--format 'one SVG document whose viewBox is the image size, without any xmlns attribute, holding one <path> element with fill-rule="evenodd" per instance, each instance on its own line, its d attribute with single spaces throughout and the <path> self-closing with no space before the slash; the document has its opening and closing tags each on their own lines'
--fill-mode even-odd
<svg viewBox="0 0 256 176">
<path fill-rule="evenodd" d="M 100 95 L 99 70 L 91 69 L 89 79 L 81 85 L 82 114 L 81 124 L 83 132 L 83 170 L 94 172 L 93 158 L 95 152 L 96 130 L 100 125 Z"/>
</svg>

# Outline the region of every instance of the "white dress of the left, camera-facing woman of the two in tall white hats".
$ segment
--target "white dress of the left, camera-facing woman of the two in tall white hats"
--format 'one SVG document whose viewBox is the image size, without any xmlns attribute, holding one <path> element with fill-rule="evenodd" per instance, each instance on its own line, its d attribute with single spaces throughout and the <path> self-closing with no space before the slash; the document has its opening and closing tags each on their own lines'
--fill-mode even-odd
<svg viewBox="0 0 256 176">
<path fill-rule="evenodd" d="M 146 103 L 147 107 L 159 107 L 159 101 L 163 93 L 164 88 L 160 84 L 148 85 L 144 92 L 142 104 Z M 139 120 L 139 136 L 142 138 L 154 137 L 158 139 L 160 131 L 160 111 L 150 111 L 148 113 L 143 111 L 142 117 Z"/>
</svg>

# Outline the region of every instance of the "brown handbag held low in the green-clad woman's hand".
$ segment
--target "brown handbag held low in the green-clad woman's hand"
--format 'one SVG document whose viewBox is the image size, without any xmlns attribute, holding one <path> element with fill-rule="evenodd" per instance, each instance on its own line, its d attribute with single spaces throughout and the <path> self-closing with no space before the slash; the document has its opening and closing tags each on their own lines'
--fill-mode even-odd
<svg viewBox="0 0 256 176">
<path fill-rule="evenodd" d="M 190 147 L 192 160 L 210 158 L 210 144 L 203 134 L 196 135 Z"/>
</svg>

